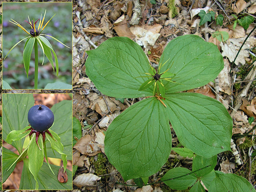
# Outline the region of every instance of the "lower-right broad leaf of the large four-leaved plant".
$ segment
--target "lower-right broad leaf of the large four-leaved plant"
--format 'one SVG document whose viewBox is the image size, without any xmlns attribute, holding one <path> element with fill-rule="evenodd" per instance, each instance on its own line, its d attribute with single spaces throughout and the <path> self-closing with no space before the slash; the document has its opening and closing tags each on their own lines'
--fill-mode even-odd
<svg viewBox="0 0 256 192">
<path fill-rule="evenodd" d="M 166 115 L 184 147 L 205 158 L 231 150 L 233 122 L 223 104 L 199 93 L 165 98 Z"/>
</svg>

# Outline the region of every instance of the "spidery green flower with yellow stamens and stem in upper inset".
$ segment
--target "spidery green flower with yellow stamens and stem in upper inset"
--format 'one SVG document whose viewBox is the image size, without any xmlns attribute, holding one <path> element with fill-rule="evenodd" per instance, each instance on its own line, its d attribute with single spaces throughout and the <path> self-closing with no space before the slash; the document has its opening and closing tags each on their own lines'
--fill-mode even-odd
<svg viewBox="0 0 256 192">
<path fill-rule="evenodd" d="M 31 57 L 32 50 L 33 50 L 33 47 L 34 47 L 34 50 L 35 50 L 35 86 L 34 87 L 35 87 L 35 89 L 37 89 L 37 85 L 38 85 L 38 43 L 40 44 L 40 47 L 42 48 L 42 52 L 43 52 L 42 65 L 44 63 L 44 55 L 45 55 L 48 58 L 48 60 L 50 61 L 51 65 L 53 67 L 53 70 L 54 70 L 54 63 L 53 63 L 53 58 L 52 58 L 52 53 L 53 53 L 54 59 L 55 59 L 55 64 L 56 64 L 56 75 L 58 75 L 58 72 L 59 72 L 58 58 L 56 56 L 56 53 L 55 53 L 51 43 L 43 36 L 51 37 L 54 40 L 58 41 L 59 43 L 63 44 L 62 42 L 57 40 L 55 37 L 52 37 L 52 36 L 47 35 L 47 34 L 42 34 L 42 31 L 44 30 L 44 28 L 52 20 L 52 18 L 56 15 L 55 14 L 54 16 L 52 16 L 52 18 L 49 19 L 49 21 L 46 22 L 46 24 L 43 26 L 44 19 L 45 19 L 45 14 L 46 14 L 46 10 L 44 12 L 43 19 L 42 19 L 42 14 L 41 14 L 40 19 L 38 19 L 37 21 L 35 21 L 35 20 L 30 21 L 30 18 L 28 16 L 28 21 L 25 21 L 25 22 L 27 22 L 31 27 L 31 30 L 29 32 L 21 24 L 14 21 L 13 19 L 11 19 L 11 21 L 9 21 L 12 24 L 15 24 L 18 27 L 20 27 L 24 32 L 26 32 L 29 35 L 28 37 L 26 37 L 26 38 L 20 40 L 19 42 L 17 42 L 10 49 L 10 51 L 11 51 L 16 45 L 18 45 L 23 40 L 27 39 L 26 43 L 25 43 L 25 46 L 24 46 L 24 51 L 23 51 L 23 63 L 24 63 L 24 68 L 26 70 L 27 77 L 28 77 L 28 71 L 29 71 L 30 57 Z M 39 24 L 36 27 L 37 23 L 39 23 Z M 63 44 L 63 45 L 66 46 L 67 48 L 70 48 L 65 44 Z M 10 53 L 10 51 L 8 52 L 8 54 Z M 5 58 L 8 56 L 8 54 L 5 56 Z"/>
</svg>

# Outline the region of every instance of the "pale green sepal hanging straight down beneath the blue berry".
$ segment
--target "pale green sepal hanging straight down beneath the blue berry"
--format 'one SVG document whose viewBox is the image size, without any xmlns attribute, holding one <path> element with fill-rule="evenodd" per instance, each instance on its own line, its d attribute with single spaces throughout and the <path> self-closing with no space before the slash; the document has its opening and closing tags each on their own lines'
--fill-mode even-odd
<svg viewBox="0 0 256 192">
<path fill-rule="evenodd" d="M 38 145 L 40 146 L 40 149 L 38 147 Z M 38 176 L 38 172 L 40 170 L 40 168 L 43 165 L 43 137 L 40 134 L 38 137 L 38 145 L 36 143 L 36 134 L 32 134 L 31 136 L 31 140 L 30 140 L 30 146 L 28 147 L 28 168 L 29 171 L 32 173 L 32 175 L 34 176 L 34 179 L 36 180 L 36 187 L 35 190 L 38 190 L 39 184 L 37 181 L 37 176 Z"/>
</svg>

